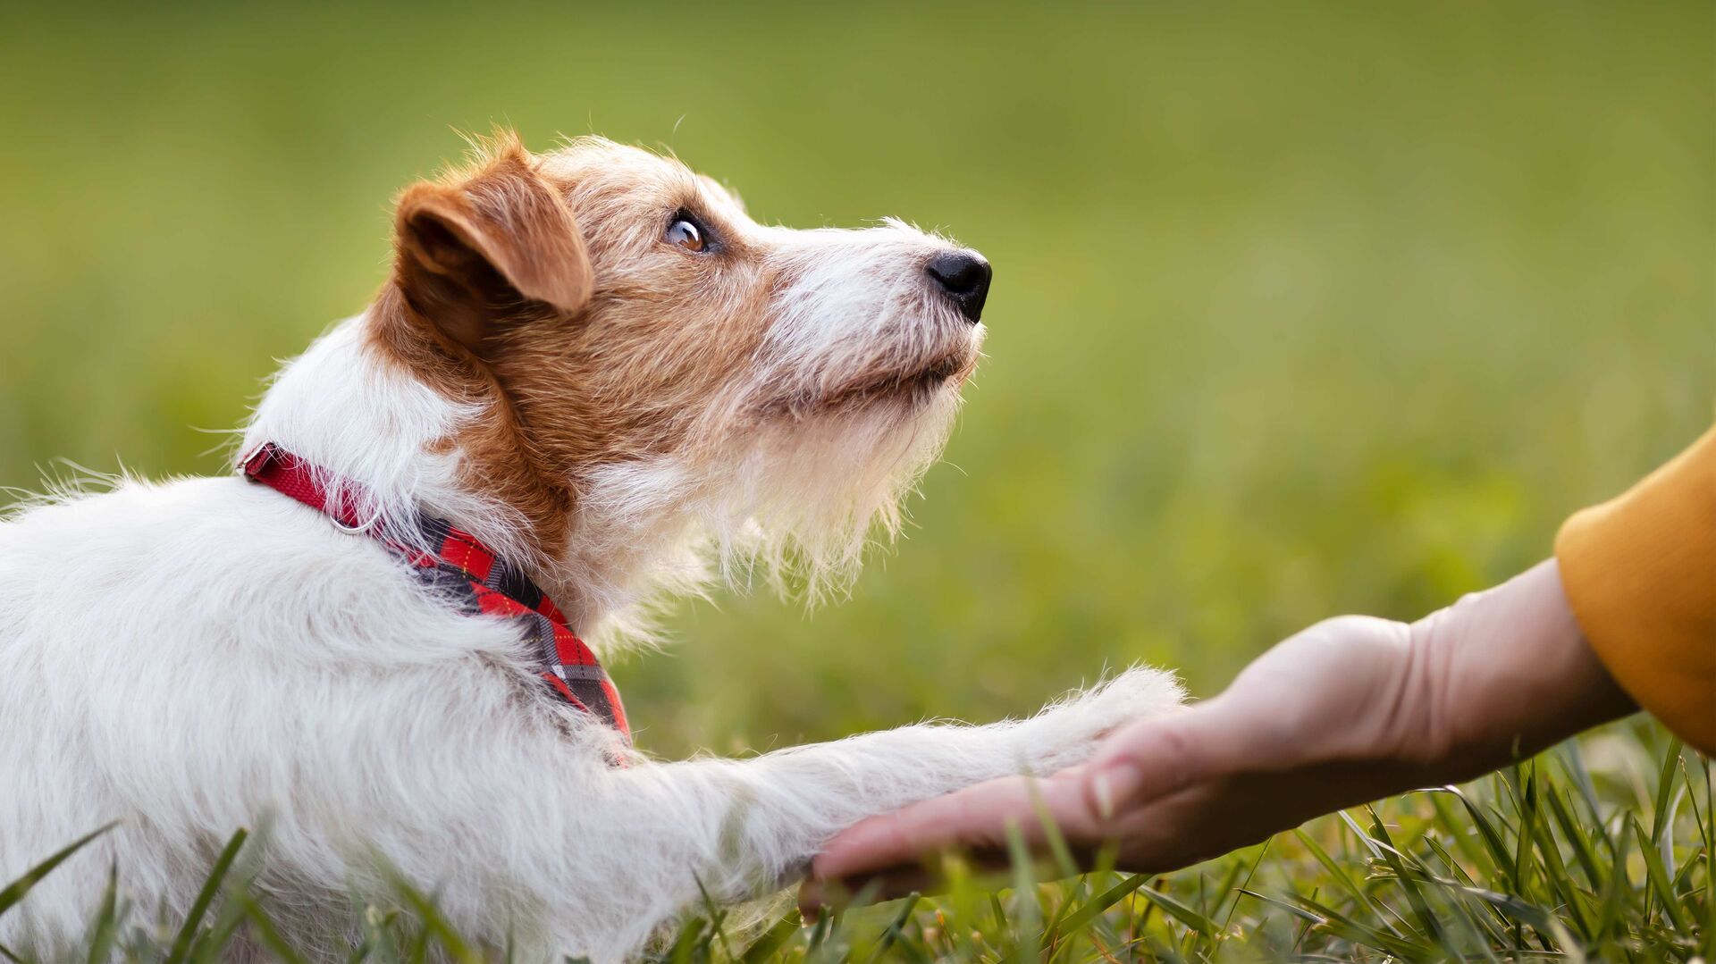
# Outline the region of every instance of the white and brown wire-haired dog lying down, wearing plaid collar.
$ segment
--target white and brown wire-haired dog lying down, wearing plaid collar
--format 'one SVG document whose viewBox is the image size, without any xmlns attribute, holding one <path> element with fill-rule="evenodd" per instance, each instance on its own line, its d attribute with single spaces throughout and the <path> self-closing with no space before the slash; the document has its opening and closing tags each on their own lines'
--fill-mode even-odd
<svg viewBox="0 0 1716 964">
<path fill-rule="evenodd" d="M 619 961 L 865 816 L 1076 765 L 1181 702 L 1133 669 L 1024 720 L 649 758 L 599 657 L 712 580 L 839 587 L 899 528 L 988 262 L 901 221 L 764 226 L 676 160 L 510 132 L 407 189 L 393 249 L 232 475 L 0 523 L 0 882 L 117 822 L 0 942 L 76 949 L 110 868 L 182 916 L 266 825 L 256 887 L 314 955 L 398 875 L 520 959 Z"/>
</svg>

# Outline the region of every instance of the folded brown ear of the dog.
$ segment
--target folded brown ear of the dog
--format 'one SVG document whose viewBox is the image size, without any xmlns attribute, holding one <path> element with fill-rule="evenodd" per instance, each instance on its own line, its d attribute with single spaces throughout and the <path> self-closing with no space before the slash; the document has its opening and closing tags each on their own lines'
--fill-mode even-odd
<svg viewBox="0 0 1716 964">
<path fill-rule="evenodd" d="M 578 223 L 515 137 L 470 173 L 407 189 L 393 244 L 405 298 L 479 357 L 508 319 L 544 305 L 575 314 L 590 300 Z"/>
</svg>

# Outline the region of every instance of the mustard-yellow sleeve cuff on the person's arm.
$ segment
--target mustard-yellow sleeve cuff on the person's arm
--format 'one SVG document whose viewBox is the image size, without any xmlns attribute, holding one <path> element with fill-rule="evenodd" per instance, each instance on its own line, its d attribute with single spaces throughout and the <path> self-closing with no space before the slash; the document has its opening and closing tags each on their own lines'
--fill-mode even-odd
<svg viewBox="0 0 1716 964">
<path fill-rule="evenodd" d="M 1574 616 L 1615 681 L 1716 755 L 1716 429 L 1555 540 Z"/>
</svg>

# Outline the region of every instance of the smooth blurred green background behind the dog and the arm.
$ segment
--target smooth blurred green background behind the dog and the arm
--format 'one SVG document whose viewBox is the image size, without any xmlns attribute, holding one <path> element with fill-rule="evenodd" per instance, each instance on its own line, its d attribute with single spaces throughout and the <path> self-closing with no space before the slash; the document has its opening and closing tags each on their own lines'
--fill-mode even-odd
<svg viewBox="0 0 1716 964">
<path fill-rule="evenodd" d="M 0 485 L 220 472 L 359 310 L 388 199 L 517 125 L 764 221 L 997 266 L 915 528 L 848 602 L 721 593 L 614 667 L 662 753 L 1217 691 L 1534 563 L 1709 425 L 1716 5 L 398 3 L 0 12 Z"/>
</svg>

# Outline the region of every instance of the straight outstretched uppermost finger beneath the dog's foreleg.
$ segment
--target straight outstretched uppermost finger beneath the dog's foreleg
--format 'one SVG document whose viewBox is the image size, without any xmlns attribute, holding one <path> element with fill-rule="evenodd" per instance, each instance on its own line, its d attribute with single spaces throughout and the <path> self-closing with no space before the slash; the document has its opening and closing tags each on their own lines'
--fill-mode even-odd
<svg viewBox="0 0 1716 964">
<path fill-rule="evenodd" d="M 1002 777 L 843 830 L 815 858 L 812 877 L 831 880 L 885 871 L 954 847 L 997 849 L 1006 846 L 1009 825 L 1019 827 L 1028 846 L 1038 846 L 1043 837 L 1040 806 L 1067 835 L 1090 828 L 1076 779 Z"/>
</svg>

